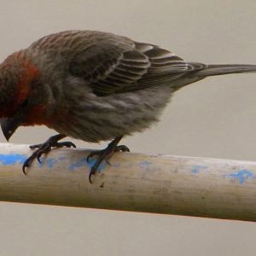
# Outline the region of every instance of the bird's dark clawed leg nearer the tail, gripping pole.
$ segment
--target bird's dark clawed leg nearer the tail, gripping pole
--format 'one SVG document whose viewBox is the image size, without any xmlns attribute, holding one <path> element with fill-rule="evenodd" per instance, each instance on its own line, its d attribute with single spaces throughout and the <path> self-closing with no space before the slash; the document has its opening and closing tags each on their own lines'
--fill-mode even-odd
<svg viewBox="0 0 256 256">
<path fill-rule="evenodd" d="M 101 165 L 102 160 L 105 160 L 109 164 L 109 159 L 113 155 L 114 152 L 123 151 L 129 152 L 130 149 L 127 148 L 125 145 L 119 145 L 118 143 L 122 137 L 115 137 L 111 143 L 108 144 L 107 148 L 97 151 L 91 151 L 90 154 L 87 156 L 87 162 L 90 162 L 90 158 L 97 156 L 96 163 L 90 168 L 90 175 L 89 181 L 91 182 L 91 176 L 95 175 L 97 168 Z"/>
</svg>

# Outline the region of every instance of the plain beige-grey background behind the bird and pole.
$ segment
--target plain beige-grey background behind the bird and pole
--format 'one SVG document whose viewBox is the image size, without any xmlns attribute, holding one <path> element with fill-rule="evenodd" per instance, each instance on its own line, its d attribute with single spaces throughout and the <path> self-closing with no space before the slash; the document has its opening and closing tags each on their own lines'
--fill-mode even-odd
<svg viewBox="0 0 256 256">
<path fill-rule="evenodd" d="M 256 63 L 255 13 L 255 0 L 1 0 L 0 59 L 51 32 L 93 29 L 160 44 L 188 61 Z M 183 88 L 160 124 L 124 143 L 148 154 L 256 160 L 255 80 L 230 75 Z M 54 133 L 20 128 L 11 143 Z M 0 255 L 255 255 L 255 234 L 255 224 L 238 221 L 0 203 Z"/>
</svg>

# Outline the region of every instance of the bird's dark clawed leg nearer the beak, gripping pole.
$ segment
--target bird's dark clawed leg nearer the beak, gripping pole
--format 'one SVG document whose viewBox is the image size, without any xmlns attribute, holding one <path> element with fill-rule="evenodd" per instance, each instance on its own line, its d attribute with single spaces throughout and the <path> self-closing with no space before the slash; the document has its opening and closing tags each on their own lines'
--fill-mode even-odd
<svg viewBox="0 0 256 256">
<path fill-rule="evenodd" d="M 64 137 L 67 137 L 67 136 L 64 134 L 57 134 L 55 136 L 49 137 L 49 139 L 45 143 L 29 146 L 29 148 L 31 149 L 35 149 L 35 148 L 38 148 L 38 149 L 24 162 L 22 166 L 22 172 L 26 174 L 26 167 L 29 167 L 32 161 L 35 159 L 37 159 L 38 162 L 41 163 L 40 161 L 41 155 L 47 154 L 51 148 L 61 148 L 61 147 L 76 148 L 76 145 L 71 142 L 58 143 L 58 141 Z"/>
</svg>

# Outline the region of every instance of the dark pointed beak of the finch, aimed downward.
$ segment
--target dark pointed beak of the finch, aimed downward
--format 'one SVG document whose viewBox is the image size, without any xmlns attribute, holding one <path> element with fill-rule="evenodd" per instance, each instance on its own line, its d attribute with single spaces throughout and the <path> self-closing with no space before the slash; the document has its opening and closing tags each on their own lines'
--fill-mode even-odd
<svg viewBox="0 0 256 256">
<path fill-rule="evenodd" d="M 24 115 L 21 113 L 15 113 L 11 118 L 3 118 L 0 120 L 3 135 L 7 141 L 15 133 L 17 128 L 24 122 Z"/>
</svg>

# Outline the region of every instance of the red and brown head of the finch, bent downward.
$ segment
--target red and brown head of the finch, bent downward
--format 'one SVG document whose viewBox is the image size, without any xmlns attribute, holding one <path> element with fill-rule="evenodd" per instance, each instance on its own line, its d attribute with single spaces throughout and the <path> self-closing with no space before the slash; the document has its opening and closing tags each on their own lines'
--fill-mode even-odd
<svg viewBox="0 0 256 256">
<path fill-rule="evenodd" d="M 0 121 L 9 138 L 20 125 L 36 125 L 44 116 L 44 96 L 40 96 L 39 72 L 23 52 L 10 55 L 0 65 Z"/>
</svg>

